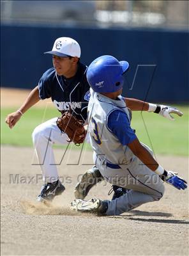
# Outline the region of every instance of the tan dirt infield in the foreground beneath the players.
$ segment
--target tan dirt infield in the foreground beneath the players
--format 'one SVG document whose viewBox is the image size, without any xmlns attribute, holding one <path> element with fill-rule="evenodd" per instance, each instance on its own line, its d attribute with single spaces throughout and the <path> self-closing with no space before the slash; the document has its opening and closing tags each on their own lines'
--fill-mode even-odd
<svg viewBox="0 0 189 256">
<path fill-rule="evenodd" d="M 55 152 L 59 161 L 63 151 Z M 42 180 L 33 156 L 32 148 L 1 147 L 1 255 L 188 255 L 188 190 L 165 185 L 162 200 L 122 216 L 78 214 L 69 204 L 78 175 L 89 166 L 63 161 L 58 168 L 66 191 L 52 205 L 42 205 L 35 200 Z M 72 152 L 72 159 L 77 157 Z M 91 161 L 91 152 L 85 159 Z M 158 156 L 158 161 L 188 179 L 186 157 Z M 87 198 L 110 198 L 110 185 L 104 185 Z"/>
</svg>

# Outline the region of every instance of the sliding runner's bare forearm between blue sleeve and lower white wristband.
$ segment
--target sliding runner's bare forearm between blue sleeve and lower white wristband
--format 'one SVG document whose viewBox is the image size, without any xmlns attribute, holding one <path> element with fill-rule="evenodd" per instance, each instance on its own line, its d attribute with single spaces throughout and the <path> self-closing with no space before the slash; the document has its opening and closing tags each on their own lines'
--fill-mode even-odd
<svg viewBox="0 0 189 256">
<path fill-rule="evenodd" d="M 158 163 L 155 161 L 153 156 L 144 148 L 138 139 L 135 139 L 132 143 L 128 144 L 133 154 L 137 156 L 142 163 L 144 163 L 153 172 L 158 168 Z"/>
</svg>

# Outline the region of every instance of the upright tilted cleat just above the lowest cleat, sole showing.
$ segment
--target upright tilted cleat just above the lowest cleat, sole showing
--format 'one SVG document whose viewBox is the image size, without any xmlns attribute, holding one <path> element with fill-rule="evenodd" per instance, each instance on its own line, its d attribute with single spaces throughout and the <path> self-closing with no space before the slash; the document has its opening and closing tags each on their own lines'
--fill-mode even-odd
<svg viewBox="0 0 189 256">
<path fill-rule="evenodd" d="M 82 175 L 80 182 L 75 186 L 75 198 L 84 199 L 89 193 L 89 190 L 102 179 L 103 177 L 96 166 L 87 170 L 87 172 Z"/>
</svg>

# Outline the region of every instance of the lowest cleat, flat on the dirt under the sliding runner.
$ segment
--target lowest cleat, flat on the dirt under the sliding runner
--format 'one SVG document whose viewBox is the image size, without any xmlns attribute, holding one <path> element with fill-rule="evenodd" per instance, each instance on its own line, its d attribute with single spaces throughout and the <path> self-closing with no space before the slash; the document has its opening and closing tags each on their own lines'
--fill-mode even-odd
<svg viewBox="0 0 189 256">
<path fill-rule="evenodd" d="M 104 215 L 108 209 L 108 204 L 107 202 L 103 202 L 98 198 L 92 198 L 88 201 L 82 199 L 75 199 L 71 203 L 70 208 L 74 211 L 92 212 L 99 215 Z"/>
</svg>

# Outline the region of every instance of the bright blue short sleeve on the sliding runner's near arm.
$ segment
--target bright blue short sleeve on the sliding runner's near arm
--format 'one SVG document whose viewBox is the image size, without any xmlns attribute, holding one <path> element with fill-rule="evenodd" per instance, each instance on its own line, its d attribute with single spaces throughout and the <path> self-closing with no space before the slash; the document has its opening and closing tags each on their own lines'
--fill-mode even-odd
<svg viewBox="0 0 189 256">
<path fill-rule="evenodd" d="M 117 136 L 122 145 L 128 145 L 128 143 L 131 143 L 137 138 L 135 132 L 130 127 L 128 116 L 118 109 L 110 113 L 107 127 Z"/>
</svg>

